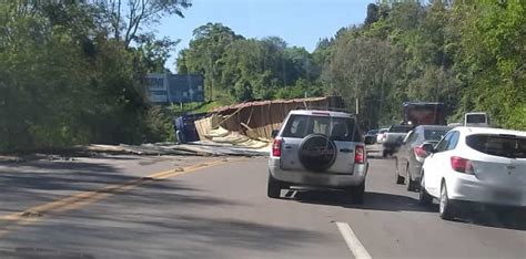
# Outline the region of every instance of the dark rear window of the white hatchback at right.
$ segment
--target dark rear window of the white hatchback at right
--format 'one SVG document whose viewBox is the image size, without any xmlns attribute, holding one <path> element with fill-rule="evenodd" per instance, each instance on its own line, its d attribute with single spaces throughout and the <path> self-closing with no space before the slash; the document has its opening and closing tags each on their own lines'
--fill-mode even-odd
<svg viewBox="0 0 526 259">
<path fill-rule="evenodd" d="M 475 151 L 493 156 L 526 158 L 526 137 L 477 134 L 467 136 L 466 144 Z"/>
</svg>

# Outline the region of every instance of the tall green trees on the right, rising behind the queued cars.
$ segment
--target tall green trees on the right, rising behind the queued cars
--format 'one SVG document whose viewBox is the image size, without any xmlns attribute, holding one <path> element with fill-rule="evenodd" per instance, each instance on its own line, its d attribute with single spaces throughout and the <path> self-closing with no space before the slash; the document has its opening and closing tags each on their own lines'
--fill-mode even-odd
<svg viewBox="0 0 526 259">
<path fill-rule="evenodd" d="M 357 99 L 365 126 L 395 123 L 404 101 L 444 102 L 526 128 L 524 1 L 370 4 L 365 24 L 332 39 L 324 82 Z"/>
</svg>

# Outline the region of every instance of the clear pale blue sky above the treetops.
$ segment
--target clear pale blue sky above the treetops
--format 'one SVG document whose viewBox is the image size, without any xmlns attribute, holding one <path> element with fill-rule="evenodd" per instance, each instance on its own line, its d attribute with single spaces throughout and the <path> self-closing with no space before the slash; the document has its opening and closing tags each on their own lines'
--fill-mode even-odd
<svg viewBox="0 0 526 259">
<path fill-rule="evenodd" d="M 333 37 L 342 27 L 361 24 L 374 0 L 193 0 L 185 18 L 165 17 L 153 29 L 158 37 L 180 39 L 166 66 L 188 48 L 195 28 L 220 22 L 245 38 L 276 35 L 289 45 L 313 51 L 321 38 Z"/>
</svg>

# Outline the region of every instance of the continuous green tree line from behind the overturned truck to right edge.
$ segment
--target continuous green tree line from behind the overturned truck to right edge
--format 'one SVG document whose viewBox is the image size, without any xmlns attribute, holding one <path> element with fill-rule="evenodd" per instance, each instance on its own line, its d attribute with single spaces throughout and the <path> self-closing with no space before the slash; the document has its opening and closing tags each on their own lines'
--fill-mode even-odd
<svg viewBox="0 0 526 259">
<path fill-rule="evenodd" d="M 402 102 L 444 102 L 449 122 L 488 112 L 526 128 L 524 1 L 382 1 L 363 25 L 322 39 L 313 53 L 280 38 L 245 39 L 209 23 L 176 65 L 205 75 L 209 100 L 342 95 L 366 128 L 399 122 Z"/>
</svg>

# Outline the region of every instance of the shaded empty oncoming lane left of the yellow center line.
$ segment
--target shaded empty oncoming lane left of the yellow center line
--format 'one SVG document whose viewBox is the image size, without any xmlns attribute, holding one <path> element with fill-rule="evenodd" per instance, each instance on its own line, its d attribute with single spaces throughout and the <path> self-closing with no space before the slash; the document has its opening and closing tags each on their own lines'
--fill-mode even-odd
<svg viewBox="0 0 526 259">
<path fill-rule="evenodd" d="M 0 215 L 204 160 L 209 159 L 192 156 L 120 155 L 0 163 Z"/>
</svg>

